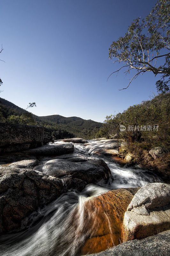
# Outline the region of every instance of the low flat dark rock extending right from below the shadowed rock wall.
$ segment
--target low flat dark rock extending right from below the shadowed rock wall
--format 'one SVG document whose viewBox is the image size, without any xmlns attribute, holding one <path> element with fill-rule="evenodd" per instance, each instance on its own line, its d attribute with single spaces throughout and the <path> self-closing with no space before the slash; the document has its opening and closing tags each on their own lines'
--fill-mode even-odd
<svg viewBox="0 0 170 256">
<path fill-rule="evenodd" d="M 33 148 L 25 151 L 24 153 L 31 156 L 54 156 L 72 153 L 74 145 L 72 144 L 55 144 L 45 145 L 39 148 Z"/>
</svg>

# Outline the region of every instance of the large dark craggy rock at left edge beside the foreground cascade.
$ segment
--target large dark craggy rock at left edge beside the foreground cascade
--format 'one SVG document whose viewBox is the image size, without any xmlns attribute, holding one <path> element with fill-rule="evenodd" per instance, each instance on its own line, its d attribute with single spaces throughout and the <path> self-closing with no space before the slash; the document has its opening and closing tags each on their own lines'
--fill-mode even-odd
<svg viewBox="0 0 170 256">
<path fill-rule="evenodd" d="M 0 167 L 0 233 L 20 229 L 27 216 L 64 191 L 58 178 L 30 169 Z"/>
</svg>

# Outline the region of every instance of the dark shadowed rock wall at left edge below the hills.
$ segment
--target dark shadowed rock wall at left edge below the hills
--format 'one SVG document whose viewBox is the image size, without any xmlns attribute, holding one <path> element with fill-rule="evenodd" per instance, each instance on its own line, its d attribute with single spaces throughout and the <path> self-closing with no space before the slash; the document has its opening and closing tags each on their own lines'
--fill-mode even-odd
<svg viewBox="0 0 170 256">
<path fill-rule="evenodd" d="M 0 152 L 41 146 L 43 136 L 44 128 L 40 126 L 0 123 Z"/>
</svg>

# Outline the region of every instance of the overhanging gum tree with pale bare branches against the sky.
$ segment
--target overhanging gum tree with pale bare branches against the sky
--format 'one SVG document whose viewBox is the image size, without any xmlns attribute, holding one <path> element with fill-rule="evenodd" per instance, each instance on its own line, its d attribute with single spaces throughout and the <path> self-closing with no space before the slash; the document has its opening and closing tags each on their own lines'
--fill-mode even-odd
<svg viewBox="0 0 170 256">
<path fill-rule="evenodd" d="M 170 84 L 170 4 L 168 0 L 158 0 L 155 7 L 145 19 L 137 18 L 129 26 L 124 37 L 114 41 L 109 48 L 109 59 L 122 63 L 125 75 L 135 70 L 131 78 L 136 79 L 147 71 L 155 76 L 161 75 L 156 82 L 157 92 L 166 93 Z M 157 63 L 161 65 L 157 65 Z M 124 64 L 123 64 L 124 63 Z M 110 74 L 110 76 L 112 75 Z M 110 77 L 109 76 L 109 77 Z M 109 78 L 108 77 L 108 78 Z M 127 89 L 129 87 L 122 88 Z"/>
</svg>

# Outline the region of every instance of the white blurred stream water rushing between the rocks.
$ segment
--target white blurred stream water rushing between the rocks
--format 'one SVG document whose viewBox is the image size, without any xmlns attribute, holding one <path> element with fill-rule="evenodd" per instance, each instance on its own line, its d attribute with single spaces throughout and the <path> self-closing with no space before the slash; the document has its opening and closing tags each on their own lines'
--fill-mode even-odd
<svg viewBox="0 0 170 256">
<path fill-rule="evenodd" d="M 55 143 L 61 143 L 56 141 Z M 63 142 L 64 143 L 64 142 Z M 101 145 L 101 141 L 89 141 L 89 146 L 74 144 L 74 154 L 89 156 L 87 149 Z M 114 180 L 89 184 L 81 192 L 61 195 L 38 213 L 32 214 L 32 225 L 24 231 L 0 237 L 1 256 L 78 256 L 87 238 L 94 235 L 98 227 L 95 209 L 88 212 L 85 202 L 111 189 L 141 187 L 161 180 L 139 166 L 122 167 L 110 157 L 103 159 L 110 168 Z M 93 218 L 93 221 L 90 220 Z M 89 223 L 92 223 L 89 228 Z"/>
</svg>

